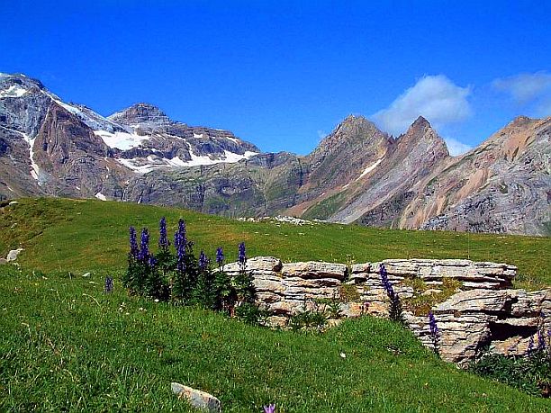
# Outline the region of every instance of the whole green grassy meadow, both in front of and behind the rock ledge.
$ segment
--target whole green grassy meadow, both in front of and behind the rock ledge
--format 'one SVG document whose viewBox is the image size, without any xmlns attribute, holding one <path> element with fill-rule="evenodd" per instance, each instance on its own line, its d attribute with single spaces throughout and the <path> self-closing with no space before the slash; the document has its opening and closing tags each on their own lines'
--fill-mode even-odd
<svg viewBox="0 0 551 413">
<path fill-rule="evenodd" d="M 551 400 L 459 371 L 399 325 L 361 318 L 319 335 L 130 297 L 119 276 L 128 227 L 187 223 L 196 251 L 229 260 L 375 261 L 470 257 L 519 266 L 519 286 L 551 285 L 549 238 L 239 222 L 145 205 L 20 200 L 0 209 L 0 411 L 192 411 L 170 391 L 208 391 L 225 412 L 551 411 Z M 155 249 L 155 247 L 153 247 Z M 91 275 L 83 277 L 86 272 Z M 104 294 L 106 274 L 115 290 Z M 344 353 L 346 357 L 340 356 Z"/>
</svg>

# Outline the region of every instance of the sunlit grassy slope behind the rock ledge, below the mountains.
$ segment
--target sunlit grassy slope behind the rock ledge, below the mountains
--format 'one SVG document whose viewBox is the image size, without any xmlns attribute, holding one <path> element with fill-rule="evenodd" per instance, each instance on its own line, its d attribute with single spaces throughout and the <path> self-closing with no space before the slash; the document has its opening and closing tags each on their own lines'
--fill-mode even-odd
<svg viewBox="0 0 551 413">
<path fill-rule="evenodd" d="M 354 225 L 295 226 L 241 222 L 158 206 L 93 200 L 20 200 L 0 209 L 0 255 L 23 247 L 20 263 L 59 272 L 117 273 L 126 265 L 128 228 L 149 227 L 157 242 L 158 220 L 167 217 L 169 233 L 184 218 L 198 253 L 213 256 L 224 247 L 235 260 L 245 241 L 248 256 L 277 256 L 284 261 L 366 262 L 384 258 L 470 258 L 519 267 L 516 286 L 551 285 L 551 238 L 437 231 L 370 229 Z"/>
</svg>

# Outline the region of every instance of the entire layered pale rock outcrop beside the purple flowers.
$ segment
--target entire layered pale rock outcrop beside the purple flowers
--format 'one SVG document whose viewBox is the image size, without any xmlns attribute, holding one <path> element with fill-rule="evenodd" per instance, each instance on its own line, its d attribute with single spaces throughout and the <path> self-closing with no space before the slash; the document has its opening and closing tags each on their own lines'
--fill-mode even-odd
<svg viewBox="0 0 551 413">
<path fill-rule="evenodd" d="M 517 268 L 513 265 L 470 260 L 389 259 L 377 263 L 343 265 L 319 262 L 282 262 L 257 256 L 247 262 L 257 301 L 270 310 L 269 323 L 285 327 L 303 310 L 316 309 L 320 299 L 339 299 L 345 318 L 370 314 L 388 317 L 389 300 L 381 283 L 384 265 L 393 289 L 406 303 L 404 319 L 425 346 L 432 347 L 429 319 L 407 310 L 407 300 L 440 294 L 449 280 L 456 290 L 432 306 L 441 332 L 439 353 L 443 359 L 466 364 L 483 348 L 503 355 L 524 355 L 530 337 L 537 346 L 537 330 L 551 330 L 551 290 L 525 292 L 510 289 Z M 225 266 L 234 275 L 239 265 Z M 413 285 L 425 286 L 422 292 Z M 330 325 L 334 320 L 330 320 Z"/>
</svg>

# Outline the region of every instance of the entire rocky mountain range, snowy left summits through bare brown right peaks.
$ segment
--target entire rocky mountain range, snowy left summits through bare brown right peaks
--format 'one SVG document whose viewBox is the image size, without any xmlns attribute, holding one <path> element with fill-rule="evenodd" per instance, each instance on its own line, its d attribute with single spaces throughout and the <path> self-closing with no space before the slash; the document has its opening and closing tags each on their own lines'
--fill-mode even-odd
<svg viewBox="0 0 551 413">
<path fill-rule="evenodd" d="M 230 217 L 548 235 L 551 118 L 519 117 L 451 157 L 420 117 L 397 138 L 348 116 L 307 156 L 262 153 L 149 103 L 104 117 L 0 75 L 0 199 L 96 197 Z"/>
</svg>

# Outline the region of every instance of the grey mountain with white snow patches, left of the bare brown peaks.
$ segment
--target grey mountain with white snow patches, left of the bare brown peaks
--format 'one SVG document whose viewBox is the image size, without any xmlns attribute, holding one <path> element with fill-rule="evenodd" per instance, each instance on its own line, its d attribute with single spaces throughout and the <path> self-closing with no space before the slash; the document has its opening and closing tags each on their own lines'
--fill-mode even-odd
<svg viewBox="0 0 551 413">
<path fill-rule="evenodd" d="M 0 195 L 124 199 L 134 175 L 238 162 L 259 152 L 226 130 L 191 127 L 138 103 L 109 118 L 40 81 L 0 74 Z"/>
</svg>

